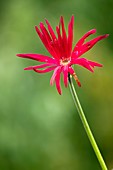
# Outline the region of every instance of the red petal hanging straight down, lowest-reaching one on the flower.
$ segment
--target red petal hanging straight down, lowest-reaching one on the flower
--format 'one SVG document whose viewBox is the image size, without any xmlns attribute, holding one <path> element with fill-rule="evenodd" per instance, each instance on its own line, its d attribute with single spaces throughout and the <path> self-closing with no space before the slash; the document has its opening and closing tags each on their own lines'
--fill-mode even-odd
<svg viewBox="0 0 113 170">
<path fill-rule="evenodd" d="M 61 74 L 61 68 L 57 71 L 57 75 L 55 77 L 56 88 L 57 88 L 58 93 L 61 95 L 62 90 L 61 90 L 61 87 L 60 87 L 60 74 Z"/>
</svg>

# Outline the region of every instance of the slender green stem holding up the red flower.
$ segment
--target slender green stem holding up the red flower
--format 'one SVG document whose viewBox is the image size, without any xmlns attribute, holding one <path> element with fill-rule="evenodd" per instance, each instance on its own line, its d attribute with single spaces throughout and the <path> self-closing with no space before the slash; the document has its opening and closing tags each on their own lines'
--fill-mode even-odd
<svg viewBox="0 0 113 170">
<path fill-rule="evenodd" d="M 72 82 L 72 76 L 70 76 L 70 75 L 69 75 L 69 85 L 70 85 L 70 91 L 71 91 L 75 106 L 76 106 L 76 108 L 78 110 L 79 116 L 80 116 L 80 118 L 82 120 L 82 123 L 84 125 L 85 131 L 86 131 L 87 136 L 88 136 L 88 138 L 89 138 L 89 140 L 91 142 L 91 145 L 92 145 L 92 147 L 94 149 L 94 152 L 95 152 L 95 154 L 97 156 L 97 159 L 98 159 L 98 161 L 99 161 L 99 163 L 101 165 L 101 168 L 102 168 L 102 170 L 107 170 L 106 164 L 105 164 L 105 162 L 104 162 L 104 160 L 102 158 L 102 155 L 101 155 L 101 153 L 99 151 L 99 148 L 98 148 L 98 146 L 96 144 L 96 141 L 95 141 L 95 139 L 93 137 L 93 134 L 92 134 L 92 132 L 90 130 L 90 127 L 88 125 L 88 122 L 86 120 L 84 112 L 82 110 L 81 104 L 79 102 L 77 93 L 75 91 L 75 88 L 74 88 L 74 85 L 73 85 L 73 82 Z"/>
</svg>

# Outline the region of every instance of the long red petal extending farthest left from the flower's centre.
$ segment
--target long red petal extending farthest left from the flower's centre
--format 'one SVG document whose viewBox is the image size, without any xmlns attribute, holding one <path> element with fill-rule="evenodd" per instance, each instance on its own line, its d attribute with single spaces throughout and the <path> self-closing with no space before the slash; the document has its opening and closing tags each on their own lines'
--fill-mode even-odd
<svg viewBox="0 0 113 170">
<path fill-rule="evenodd" d="M 53 63 L 53 64 L 56 63 L 55 59 L 42 55 L 42 54 L 17 54 L 17 56 L 40 61 L 40 62 Z"/>
</svg>

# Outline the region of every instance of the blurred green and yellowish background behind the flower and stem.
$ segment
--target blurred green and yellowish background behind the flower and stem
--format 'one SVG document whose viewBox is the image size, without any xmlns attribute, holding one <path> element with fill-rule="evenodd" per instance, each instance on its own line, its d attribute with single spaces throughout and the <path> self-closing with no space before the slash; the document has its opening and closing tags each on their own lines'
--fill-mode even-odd
<svg viewBox="0 0 113 170">
<path fill-rule="evenodd" d="M 101 169 L 69 88 L 62 82 L 63 94 L 58 95 L 49 85 L 52 72 L 24 71 L 37 62 L 16 57 L 17 53 L 49 55 L 34 26 L 47 18 L 55 28 L 60 15 L 67 25 L 72 14 L 74 44 L 92 28 L 97 29 L 96 36 L 110 34 L 84 55 L 104 67 L 92 74 L 75 66 L 82 87 L 74 84 L 108 169 L 113 168 L 113 1 L 1 0 L 1 170 Z"/>
</svg>

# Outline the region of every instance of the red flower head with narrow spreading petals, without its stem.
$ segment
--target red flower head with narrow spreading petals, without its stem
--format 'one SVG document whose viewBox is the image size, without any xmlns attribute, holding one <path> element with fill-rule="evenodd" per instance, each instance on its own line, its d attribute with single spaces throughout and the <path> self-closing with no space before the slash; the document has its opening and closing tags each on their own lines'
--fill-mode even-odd
<svg viewBox="0 0 113 170">
<path fill-rule="evenodd" d="M 36 32 L 43 42 L 44 46 L 50 53 L 52 57 L 48 57 L 42 54 L 17 54 L 17 56 L 22 58 L 33 59 L 36 61 L 44 62 L 44 64 L 37 66 L 29 66 L 24 70 L 34 70 L 37 73 L 46 73 L 54 70 L 54 73 L 51 77 L 50 84 L 53 85 L 54 81 L 56 83 L 56 88 L 61 94 L 60 87 L 60 75 L 63 73 L 65 87 L 68 85 L 68 74 L 71 74 L 76 80 L 77 84 L 81 86 L 77 75 L 72 68 L 73 64 L 78 64 L 87 68 L 89 71 L 93 72 L 94 67 L 102 67 L 101 64 L 87 60 L 85 58 L 80 58 L 82 54 L 90 50 L 98 41 L 107 38 L 108 34 L 100 35 L 88 42 L 85 42 L 85 39 L 96 32 L 96 29 L 88 31 L 75 45 L 72 50 L 73 42 L 73 26 L 74 26 L 74 16 L 71 17 L 71 20 L 68 24 L 68 35 L 66 34 L 64 26 L 64 18 L 60 17 L 59 25 L 56 26 L 55 35 L 50 23 L 45 19 L 47 28 L 41 22 L 39 27 L 35 26 Z"/>
</svg>

